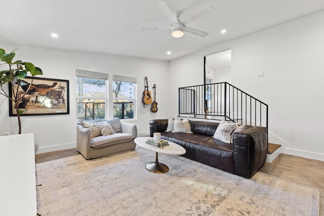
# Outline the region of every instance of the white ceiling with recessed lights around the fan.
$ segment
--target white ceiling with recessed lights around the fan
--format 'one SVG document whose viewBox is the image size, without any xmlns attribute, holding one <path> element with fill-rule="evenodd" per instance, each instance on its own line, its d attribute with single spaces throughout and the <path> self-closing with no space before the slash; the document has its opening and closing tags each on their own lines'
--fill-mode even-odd
<svg viewBox="0 0 324 216">
<path fill-rule="evenodd" d="M 210 6 L 216 10 L 188 24 L 210 33 L 207 37 L 185 32 L 169 44 L 171 30 L 141 29 L 171 24 L 157 2 L 3 1 L 0 42 L 171 60 L 324 10 L 323 0 L 165 0 L 172 12 L 183 12 L 181 20 Z M 227 33 L 221 34 L 222 29 Z M 59 37 L 52 38 L 53 32 Z"/>
</svg>

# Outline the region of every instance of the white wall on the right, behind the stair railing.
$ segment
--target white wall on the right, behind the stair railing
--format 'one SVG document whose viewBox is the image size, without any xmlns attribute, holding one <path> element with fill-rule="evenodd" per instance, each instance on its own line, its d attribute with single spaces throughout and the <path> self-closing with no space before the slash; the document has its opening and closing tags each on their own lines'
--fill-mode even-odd
<svg viewBox="0 0 324 216">
<path fill-rule="evenodd" d="M 202 84 L 203 56 L 231 49 L 232 84 L 269 105 L 269 141 L 284 153 L 324 160 L 322 20 L 324 11 L 175 59 L 169 93 Z"/>
</svg>

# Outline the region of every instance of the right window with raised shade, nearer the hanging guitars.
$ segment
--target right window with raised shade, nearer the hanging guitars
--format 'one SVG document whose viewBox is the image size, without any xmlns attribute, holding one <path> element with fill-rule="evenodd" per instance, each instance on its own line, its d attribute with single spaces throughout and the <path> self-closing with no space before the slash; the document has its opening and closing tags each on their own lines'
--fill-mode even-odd
<svg viewBox="0 0 324 216">
<path fill-rule="evenodd" d="M 135 118 L 136 78 L 113 75 L 113 117 Z"/>
</svg>

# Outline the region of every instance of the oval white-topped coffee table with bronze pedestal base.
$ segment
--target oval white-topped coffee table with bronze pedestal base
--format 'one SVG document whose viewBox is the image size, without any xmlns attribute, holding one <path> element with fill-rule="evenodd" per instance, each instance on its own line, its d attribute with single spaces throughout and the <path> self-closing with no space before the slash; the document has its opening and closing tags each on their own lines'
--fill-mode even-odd
<svg viewBox="0 0 324 216">
<path fill-rule="evenodd" d="M 186 150 L 173 142 L 168 141 L 169 146 L 165 146 L 163 148 L 157 148 L 150 144 L 145 143 L 146 140 L 152 139 L 151 137 L 138 137 L 135 138 L 135 143 L 145 149 L 151 150 L 156 152 L 155 154 L 155 162 L 146 163 L 145 167 L 147 170 L 154 172 L 154 173 L 165 173 L 169 170 L 169 167 L 164 163 L 158 162 L 157 153 L 163 154 L 171 154 L 171 155 L 183 155 L 186 153 Z"/>
</svg>

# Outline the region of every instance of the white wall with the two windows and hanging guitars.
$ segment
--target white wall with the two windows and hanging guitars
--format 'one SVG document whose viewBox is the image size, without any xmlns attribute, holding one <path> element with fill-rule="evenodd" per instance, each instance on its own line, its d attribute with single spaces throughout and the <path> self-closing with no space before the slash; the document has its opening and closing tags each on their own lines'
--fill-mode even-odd
<svg viewBox="0 0 324 216">
<path fill-rule="evenodd" d="M 69 80 L 70 114 L 22 116 L 22 133 L 34 133 L 39 142 L 37 153 L 73 148 L 76 146 L 76 78 L 75 70 L 92 70 L 109 74 L 109 95 L 112 96 L 112 74 L 136 77 L 137 85 L 137 120 L 128 120 L 136 123 L 139 135 L 149 134 L 148 121 L 153 118 L 167 118 L 168 98 L 168 61 L 150 60 L 142 58 L 122 57 L 98 53 L 74 52 L 66 50 L 45 49 L 21 45 L 0 44 L 8 52 L 18 48 L 15 60 L 32 62 L 42 68 L 46 78 Z M 0 66 L 0 70 L 4 70 Z M 156 84 L 156 102 L 158 111 L 150 112 L 144 108 L 142 94 L 144 91 L 144 77 L 148 77 L 149 90 Z M 8 85 L 5 87 L 8 90 Z M 109 98 L 112 104 L 112 98 Z M 0 135 L 4 132 L 18 134 L 17 117 L 9 117 L 8 99 L 0 96 Z M 112 109 L 109 110 L 112 118 Z"/>
</svg>

